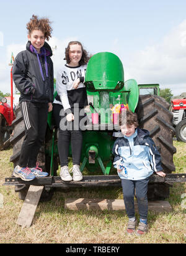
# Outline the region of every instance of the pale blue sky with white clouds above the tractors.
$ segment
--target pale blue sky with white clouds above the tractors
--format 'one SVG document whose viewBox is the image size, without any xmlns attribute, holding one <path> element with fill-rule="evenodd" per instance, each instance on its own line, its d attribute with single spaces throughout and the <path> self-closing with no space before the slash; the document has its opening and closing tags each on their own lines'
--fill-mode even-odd
<svg viewBox="0 0 186 256">
<path fill-rule="evenodd" d="M 11 52 L 27 43 L 32 14 L 49 17 L 55 75 L 69 40 L 90 54 L 113 52 L 122 60 L 125 80 L 159 83 L 174 95 L 186 92 L 185 0 L 32 0 L 2 1 L 0 15 L 0 90 L 10 92 Z"/>
</svg>

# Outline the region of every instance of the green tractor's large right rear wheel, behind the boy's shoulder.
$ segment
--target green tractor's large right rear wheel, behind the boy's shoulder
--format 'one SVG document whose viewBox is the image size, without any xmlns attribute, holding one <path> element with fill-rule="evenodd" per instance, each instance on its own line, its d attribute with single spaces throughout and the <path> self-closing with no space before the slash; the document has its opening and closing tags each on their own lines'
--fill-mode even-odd
<svg viewBox="0 0 186 256">
<path fill-rule="evenodd" d="M 140 95 L 136 113 L 139 118 L 139 128 L 149 131 L 151 138 L 161 153 L 162 168 L 164 173 L 175 171 L 173 146 L 175 129 L 172 126 L 173 115 L 169 111 L 169 103 L 157 95 Z M 154 183 L 149 184 L 148 199 L 160 200 L 169 197 L 169 185 Z"/>
</svg>

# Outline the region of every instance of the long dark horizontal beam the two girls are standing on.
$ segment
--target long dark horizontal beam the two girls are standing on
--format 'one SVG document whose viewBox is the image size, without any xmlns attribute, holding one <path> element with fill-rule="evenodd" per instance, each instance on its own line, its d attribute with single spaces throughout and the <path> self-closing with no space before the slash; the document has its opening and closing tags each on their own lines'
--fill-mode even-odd
<svg viewBox="0 0 186 256">
<path fill-rule="evenodd" d="M 149 183 L 185 183 L 186 174 L 166 174 L 166 177 L 160 177 L 153 174 Z M 22 181 L 20 178 L 5 178 L 4 186 L 15 185 L 33 185 L 47 187 L 95 187 L 95 186 L 121 186 L 121 180 L 118 175 L 92 175 L 83 176 L 82 181 L 62 181 L 60 176 L 48 176 L 44 178 L 35 178 L 33 181 Z"/>
</svg>

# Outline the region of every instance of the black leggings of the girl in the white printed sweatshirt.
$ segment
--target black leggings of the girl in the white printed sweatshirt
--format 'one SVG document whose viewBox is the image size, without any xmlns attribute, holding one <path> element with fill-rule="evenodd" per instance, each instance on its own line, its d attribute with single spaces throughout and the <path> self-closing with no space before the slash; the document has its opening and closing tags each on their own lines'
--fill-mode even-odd
<svg viewBox="0 0 186 256">
<path fill-rule="evenodd" d="M 72 158 L 73 164 L 80 164 L 81 159 L 81 149 L 82 149 L 82 131 L 80 129 L 74 130 L 74 121 L 71 123 L 71 129 L 66 128 L 66 130 L 61 130 L 64 126 L 61 126 L 60 121 L 65 117 L 65 115 L 60 115 L 60 111 L 63 109 L 60 104 L 53 104 L 53 116 L 55 119 L 56 126 L 59 130 L 59 138 L 58 138 L 58 153 L 60 156 L 60 164 L 61 167 L 68 165 L 68 156 L 69 156 L 69 143 L 71 141 L 71 150 L 72 150 Z M 73 109 L 72 109 L 73 111 Z M 74 111 L 73 111 L 74 112 Z M 81 121 L 81 117 L 79 116 L 79 122 Z M 76 116 L 74 116 L 76 118 Z M 64 125 L 67 124 L 67 121 Z"/>
</svg>

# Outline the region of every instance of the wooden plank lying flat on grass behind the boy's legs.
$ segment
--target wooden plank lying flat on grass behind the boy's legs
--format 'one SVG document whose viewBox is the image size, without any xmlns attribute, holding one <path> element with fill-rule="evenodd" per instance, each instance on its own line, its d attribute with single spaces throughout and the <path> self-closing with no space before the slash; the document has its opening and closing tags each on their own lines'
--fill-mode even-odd
<svg viewBox="0 0 186 256">
<path fill-rule="evenodd" d="M 86 199 L 86 198 L 68 198 L 65 199 L 64 209 L 82 210 L 82 209 L 98 209 L 98 210 L 125 210 L 123 199 Z M 149 201 L 149 211 L 153 212 L 170 212 L 172 207 L 167 201 Z M 135 210 L 138 212 L 138 205 L 135 201 Z"/>
</svg>

